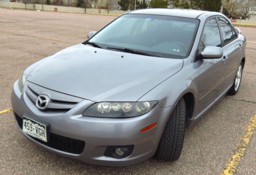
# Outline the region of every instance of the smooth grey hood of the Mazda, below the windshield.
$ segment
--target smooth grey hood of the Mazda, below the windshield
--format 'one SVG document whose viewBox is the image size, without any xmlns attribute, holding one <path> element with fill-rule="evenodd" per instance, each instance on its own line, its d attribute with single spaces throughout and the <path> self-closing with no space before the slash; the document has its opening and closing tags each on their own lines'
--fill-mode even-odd
<svg viewBox="0 0 256 175">
<path fill-rule="evenodd" d="M 91 101 L 137 101 L 183 66 L 182 59 L 78 44 L 45 58 L 27 80 Z"/>
</svg>

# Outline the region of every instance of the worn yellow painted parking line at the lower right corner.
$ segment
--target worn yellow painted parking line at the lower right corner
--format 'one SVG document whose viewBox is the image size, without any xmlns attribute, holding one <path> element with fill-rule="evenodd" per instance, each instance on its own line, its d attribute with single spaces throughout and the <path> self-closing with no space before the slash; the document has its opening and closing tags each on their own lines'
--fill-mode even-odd
<svg viewBox="0 0 256 175">
<path fill-rule="evenodd" d="M 250 142 L 251 136 L 253 135 L 254 127 L 256 127 L 256 115 L 251 117 L 242 137 L 240 138 L 237 146 L 234 148 L 224 170 L 221 172 L 222 175 L 234 174 L 234 172 L 237 170 L 237 166 L 244 156 L 245 149 Z"/>
</svg>

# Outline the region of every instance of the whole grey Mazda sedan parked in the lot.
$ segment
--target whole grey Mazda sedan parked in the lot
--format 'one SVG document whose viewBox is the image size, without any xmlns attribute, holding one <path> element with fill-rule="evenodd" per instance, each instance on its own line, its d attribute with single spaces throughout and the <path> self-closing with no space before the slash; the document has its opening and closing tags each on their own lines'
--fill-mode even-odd
<svg viewBox="0 0 256 175">
<path fill-rule="evenodd" d="M 131 11 L 30 65 L 14 118 L 36 145 L 90 164 L 175 161 L 185 127 L 238 92 L 245 46 L 221 13 Z"/>
</svg>

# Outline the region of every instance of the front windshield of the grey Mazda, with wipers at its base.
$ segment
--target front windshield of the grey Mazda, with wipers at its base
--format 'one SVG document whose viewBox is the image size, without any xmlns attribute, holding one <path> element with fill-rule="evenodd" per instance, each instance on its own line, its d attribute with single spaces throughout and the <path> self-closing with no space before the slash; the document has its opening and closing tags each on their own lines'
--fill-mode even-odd
<svg viewBox="0 0 256 175">
<path fill-rule="evenodd" d="M 89 41 L 103 49 L 130 49 L 166 58 L 188 56 L 197 19 L 145 14 L 125 14 Z"/>
</svg>

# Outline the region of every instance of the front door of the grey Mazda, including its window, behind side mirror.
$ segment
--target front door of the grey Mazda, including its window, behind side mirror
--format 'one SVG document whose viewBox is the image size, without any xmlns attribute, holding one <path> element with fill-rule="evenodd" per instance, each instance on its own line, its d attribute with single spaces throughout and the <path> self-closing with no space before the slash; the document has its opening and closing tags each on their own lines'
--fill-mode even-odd
<svg viewBox="0 0 256 175">
<path fill-rule="evenodd" d="M 221 34 L 216 17 L 209 18 L 204 25 L 198 49 L 202 50 L 206 46 L 222 46 Z M 221 84 L 226 76 L 226 73 L 223 71 L 223 58 L 202 59 L 199 61 L 201 61 L 201 63 L 198 68 L 200 84 L 197 113 L 203 112 L 216 100 L 220 91 L 222 91 Z"/>
</svg>

